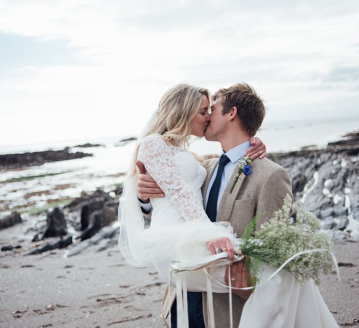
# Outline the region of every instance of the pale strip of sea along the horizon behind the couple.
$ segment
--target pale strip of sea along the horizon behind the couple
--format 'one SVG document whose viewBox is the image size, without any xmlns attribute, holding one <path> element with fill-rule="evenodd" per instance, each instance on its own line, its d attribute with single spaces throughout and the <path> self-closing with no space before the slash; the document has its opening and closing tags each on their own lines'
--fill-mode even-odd
<svg viewBox="0 0 359 328">
<path fill-rule="evenodd" d="M 345 118 L 342 120 L 315 120 L 315 121 L 282 121 L 264 123 L 257 133 L 267 145 L 268 153 L 286 152 L 298 150 L 301 147 L 315 145 L 325 147 L 328 142 L 340 139 L 344 134 L 359 129 L 359 117 L 356 119 Z M 2 144 L 0 143 L 0 155 L 43 150 L 60 150 L 64 147 L 91 143 L 101 145 L 116 145 L 120 140 L 137 135 L 111 136 L 111 137 L 82 137 L 76 139 L 54 140 L 36 143 Z M 193 151 L 205 154 L 208 150 L 220 150 L 219 143 L 203 142 L 204 138 L 195 140 L 191 145 Z M 197 146 L 200 145 L 200 146 Z M 204 147 L 204 148 L 203 148 Z"/>
</svg>

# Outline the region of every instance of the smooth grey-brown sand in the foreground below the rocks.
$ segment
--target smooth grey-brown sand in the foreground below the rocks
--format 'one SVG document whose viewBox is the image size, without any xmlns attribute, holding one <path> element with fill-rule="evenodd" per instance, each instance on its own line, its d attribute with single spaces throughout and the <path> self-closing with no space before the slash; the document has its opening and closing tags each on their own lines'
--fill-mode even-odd
<svg viewBox="0 0 359 328">
<path fill-rule="evenodd" d="M 164 327 L 165 283 L 154 268 L 133 268 L 117 245 L 98 251 L 101 243 L 67 258 L 64 249 L 23 256 L 26 225 L 0 232 L 1 246 L 22 245 L 0 253 L 0 327 Z M 341 327 L 359 326 L 359 241 L 336 241 L 335 256 L 341 282 L 324 276 L 320 291 Z"/>
</svg>

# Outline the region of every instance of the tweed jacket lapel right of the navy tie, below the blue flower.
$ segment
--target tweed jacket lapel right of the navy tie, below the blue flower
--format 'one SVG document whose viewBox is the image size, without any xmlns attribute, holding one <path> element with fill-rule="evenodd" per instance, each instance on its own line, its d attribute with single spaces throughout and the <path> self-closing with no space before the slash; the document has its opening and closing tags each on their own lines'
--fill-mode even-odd
<svg viewBox="0 0 359 328">
<path fill-rule="evenodd" d="M 241 173 L 232 190 L 232 193 L 230 193 L 232 185 L 236 180 L 237 173 L 238 173 L 238 168 L 236 167 L 231 178 L 229 179 L 226 189 L 223 192 L 221 202 L 219 203 L 217 221 L 228 221 L 229 218 L 231 217 L 235 200 L 237 199 L 237 195 L 239 193 L 240 187 L 242 186 L 243 181 L 246 177 L 244 173 Z"/>
</svg>

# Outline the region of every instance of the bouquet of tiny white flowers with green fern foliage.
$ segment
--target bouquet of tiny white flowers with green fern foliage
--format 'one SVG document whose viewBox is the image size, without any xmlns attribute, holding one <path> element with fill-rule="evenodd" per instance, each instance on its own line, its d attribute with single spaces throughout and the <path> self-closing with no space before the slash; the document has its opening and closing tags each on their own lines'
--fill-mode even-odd
<svg viewBox="0 0 359 328">
<path fill-rule="evenodd" d="M 297 205 L 297 217 L 292 222 L 290 217 L 292 198 L 287 195 L 283 206 L 276 211 L 268 222 L 255 232 L 258 218 L 248 224 L 240 240 L 240 252 L 249 258 L 247 270 L 251 275 L 251 286 L 261 278 L 264 262 L 267 266 L 280 267 L 291 256 L 300 251 L 325 249 L 323 252 L 312 252 L 295 257 L 283 270 L 292 273 L 300 283 L 313 279 L 320 284 L 320 274 L 329 274 L 333 267 L 331 252 L 333 243 L 324 232 L 318 232 L 320 219 Z"/>
</svg>

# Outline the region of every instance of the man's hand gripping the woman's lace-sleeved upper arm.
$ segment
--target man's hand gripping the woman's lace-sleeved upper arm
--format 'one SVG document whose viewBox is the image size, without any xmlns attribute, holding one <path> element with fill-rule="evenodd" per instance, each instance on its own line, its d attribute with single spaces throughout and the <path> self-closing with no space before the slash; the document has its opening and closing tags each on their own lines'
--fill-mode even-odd
<svg viewBox="0 0 359 328">
<path fill-rule="evenodd" d="M 141 161 L 137 161 L 136 165 L 139 169 L 139 178 L 137 183 L 137 196 L 143 203 L 150 202 L 150 198 L 164 197 L 165 194 L 157 183 L 149 174 L 145 174 L 145 165 Z"/>
</svg>

